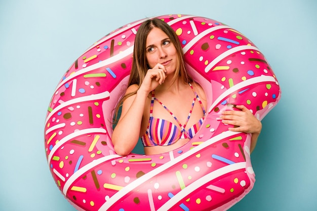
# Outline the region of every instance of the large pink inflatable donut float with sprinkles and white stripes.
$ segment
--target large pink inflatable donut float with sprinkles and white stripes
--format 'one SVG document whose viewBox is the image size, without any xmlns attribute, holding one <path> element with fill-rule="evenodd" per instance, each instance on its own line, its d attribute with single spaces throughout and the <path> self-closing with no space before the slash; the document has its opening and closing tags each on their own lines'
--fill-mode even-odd
<svg viewBox="0 0 317 211">
<path fill-rule="evenodd" d="M 208 96 L 208 114 L 189 143 L 159 155 L 117 155 L 112 116 L 127 88 L 139 20 L 92 45 L 56 87 L 45 121 L 53 178 L 78 210 L 225 210 L 252 188 L 251 135 L 228 131 L 221 111 L 244 104 L 259 119 L 278 103 L 264 55 L 239 31 L 212 19 L 163 15 L 187 70 Z"/>
</svg>

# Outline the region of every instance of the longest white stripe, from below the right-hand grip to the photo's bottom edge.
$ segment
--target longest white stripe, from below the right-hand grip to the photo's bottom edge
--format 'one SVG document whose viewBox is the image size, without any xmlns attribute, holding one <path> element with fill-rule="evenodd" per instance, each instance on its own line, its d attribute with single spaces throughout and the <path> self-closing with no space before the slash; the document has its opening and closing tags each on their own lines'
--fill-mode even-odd
<svg viewBox="0 0 317 211">
<path fill-rule="evenodd" d="M 138 186 L 142 185 L 142 183 L 145 183 L 146 181 L 152 179 L 153 177 L 155 177 L 157 174 L 162 173 L 163 171 L 165 171 L 166 169 L 172 167 L 173 165 L 182 162 L 184 159 L 186 159 L 187 157 L 209 147 L 210 145 L 218 142 L 219 140 L 229 137 L 231 135 L 234 134 L 239 134 L 240 132 L 232 132 L 232 131 L 225 131 L 222 132 L 208 140 L 206 140 L 206 142 L 203 142 L 202 144 L 196 146 L 195 148 L 185 152 L 184 154 L 176 157 L 175 159 L 166 162 L 165 164 L 147 172 L 146 174 L 142 175 L 142 177 L 136 179 L 135 181 L 131 182 L 130 184 L 128 184 L 126 187 L 124 187 L 123 189 L 121 189 L 120 191 L 116 192 L 111 198 L 109 198 L 109 200 L 107 200 L 98 210 L 102 211 L 102 210 L 108 210 L 115 202 L 120 201 L 120 199 L 122 197 L 124 197 L 125 195 L 129 194 L 131 191 L 133 191 L 135 188 L 137 188 Z"/>
</svg>

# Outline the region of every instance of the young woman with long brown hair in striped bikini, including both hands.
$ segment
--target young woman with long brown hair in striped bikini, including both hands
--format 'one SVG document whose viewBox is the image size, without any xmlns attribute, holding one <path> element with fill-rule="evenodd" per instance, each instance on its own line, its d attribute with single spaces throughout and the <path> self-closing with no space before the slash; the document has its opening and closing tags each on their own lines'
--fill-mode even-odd
<svg viewBox="0 0 317 211">
<path fill-rule="evenodd" d="M 182 48 L 174 30 L 160 19 L 147 20 L 136 34 L 132 70 L 122 114 L 112 133 L 114 150 L 128 155 L 141 137 L 146 155 L 160 154 L 186 144 L 206 115 L 202 87 L 187 75 Z M 231 131 L 252 134 L 255 148 L 262 125 L 244 106 L 225 111 L 223 123 Z"/>
</svg>

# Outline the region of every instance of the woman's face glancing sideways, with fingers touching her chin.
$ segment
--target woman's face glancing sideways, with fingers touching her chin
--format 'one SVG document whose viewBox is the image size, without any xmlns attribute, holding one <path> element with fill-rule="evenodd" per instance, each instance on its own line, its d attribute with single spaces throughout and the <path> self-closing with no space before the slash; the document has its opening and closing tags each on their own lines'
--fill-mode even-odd
<svg viewBox="0 0 317 211">
<path fill-rule="evenodd" d="M 167 74 L 176 69 L 177 51 L 167 34 L 159 28 L 154 27 L 146 38 L 146 60 L 150 68 L 157 63 L 163 64 Z"/>
</svg>

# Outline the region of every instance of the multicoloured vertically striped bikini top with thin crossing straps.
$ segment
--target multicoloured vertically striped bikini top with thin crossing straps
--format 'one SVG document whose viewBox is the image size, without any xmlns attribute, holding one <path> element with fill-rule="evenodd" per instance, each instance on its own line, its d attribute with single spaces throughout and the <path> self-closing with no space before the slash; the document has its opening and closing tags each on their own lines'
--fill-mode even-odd
<svg viewBox="0 0 317 211">
<path fill-rule="evenodd" d="M 191 84 L 189 84 L 191 87 L 192 91 L 195 94 L 195 97 L 191 103 L 191 110 L 188 114 L 188 117 L 186 119 L 186 122 L 184 125 L 182 125 L 178 119 L 175 117 L 175 115 L 157 98 L 154 96 L 154 90 L 152 91 L 152 98 L 151 98 L 151 105 L 150 105 L 150 118 L 148 121 L 147 129 L 145 134 L 141 137 L 142 143 L 144 147 L 152 147 L 152 146 L 168 146 L 172 145 L 175 142 L 178 141 L 178 139 L 181 138 L 192 138 L 196 132 L 199 130 L 201 125 L 203 124 L 204 117 L 206 115 L 206 111 L 204 109 L 203 103 L 201 99 L 199 98 L 198 94 L 194 91 L 193 87 Z M 203 112 L 204 112 L 204 117 L 200 119 L 196 124 L 191 126 L 187 131 L 185 130 L 186 124 L 190 118 L 192 109 L 194 107 L 196 99 L 200 102 Z M 176 120 L 178 123 L 179 127 L 181 130 L 172 122 L 169 122 L 164 119 L 158 119 L 154 118 L 152 116 L 153 113 L 153 104 L 154 100 L 159 102 Z"/>
</svg>

